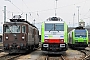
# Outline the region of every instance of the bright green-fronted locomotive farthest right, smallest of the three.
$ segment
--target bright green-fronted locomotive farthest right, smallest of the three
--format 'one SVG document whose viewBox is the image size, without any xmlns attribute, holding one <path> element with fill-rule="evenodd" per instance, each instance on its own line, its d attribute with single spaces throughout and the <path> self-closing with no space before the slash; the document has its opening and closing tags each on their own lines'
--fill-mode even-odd
<svg viewBox="0 0 90 60">
<path fill-rule="evenodd" d="M 68 44 L 70 47 L 87 47 L 88 30 L 83 27 L 76 27 L 68 33 Z"/>
</svg>

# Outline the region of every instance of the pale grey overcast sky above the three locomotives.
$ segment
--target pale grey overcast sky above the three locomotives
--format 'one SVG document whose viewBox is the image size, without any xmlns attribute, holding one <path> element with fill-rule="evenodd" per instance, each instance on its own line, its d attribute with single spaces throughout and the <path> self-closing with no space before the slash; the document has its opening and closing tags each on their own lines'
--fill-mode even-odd
<svg viewBox="0 0 90 60">
<path fill-rule="evenodd" d="M 13 15 L 20 15 L 25 18 L 28 15 L 28 21 L 40 23 L 47 18 L 55 16 L 55 8 L 58 17 L 66 21 L 67 24 L 74 25 L 78 23 L 78 8 L 79 19 L 82 19 L 86 24 L 90 24 L 90 0 L 0 0 L 0 22 L 4 20 L 3 9 L 6 6 L 7 21 Z M 75 16 L 74 16 L 75 14 Z"/>
</svg>

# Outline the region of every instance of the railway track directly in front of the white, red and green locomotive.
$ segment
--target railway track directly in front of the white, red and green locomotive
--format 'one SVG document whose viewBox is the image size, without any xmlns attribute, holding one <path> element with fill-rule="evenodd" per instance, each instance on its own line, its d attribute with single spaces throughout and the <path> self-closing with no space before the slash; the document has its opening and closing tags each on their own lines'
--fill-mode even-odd
<svg viewBox="0 0 90 60">
<path fill-rule="evenodd" d="M 42 54 L 36 60 L 67 60 L 66 53 L 64 54 Z"/>
</svg>

